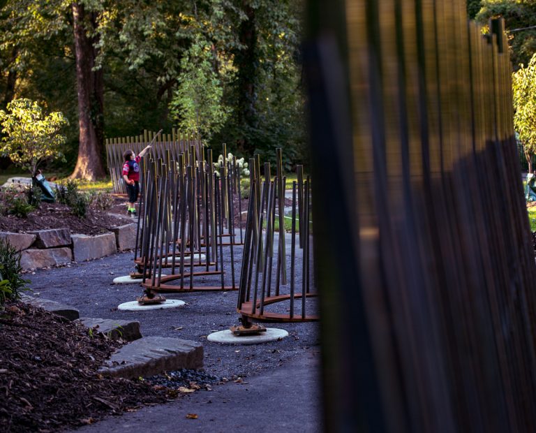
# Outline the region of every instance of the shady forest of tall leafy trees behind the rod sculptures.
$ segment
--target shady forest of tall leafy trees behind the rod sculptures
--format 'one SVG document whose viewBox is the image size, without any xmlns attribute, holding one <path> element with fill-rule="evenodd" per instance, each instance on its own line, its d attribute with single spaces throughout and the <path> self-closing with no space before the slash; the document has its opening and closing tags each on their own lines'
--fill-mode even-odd
<svg viewBox="0 0 536 433">
<path fill-rule="evenodd" d="M 216 151 L 226 142 L 239 156 L 258 152 L 265 161 L 282 146 L 290 169 L 304 159 L 301 7 L 296 0 L 1 0 L 0 109 L 29 98 L 62 112 L 70 122 L 66 162 L 49 168 L 65 173 L 79 145 L 95 160 L 105 138 L 173 126 L 199 131 Z M 0 164 L 8 168 L 9 160 Z M 73 174 L 96 179 L 103 168 L 77 164 Z"/>
</svg>

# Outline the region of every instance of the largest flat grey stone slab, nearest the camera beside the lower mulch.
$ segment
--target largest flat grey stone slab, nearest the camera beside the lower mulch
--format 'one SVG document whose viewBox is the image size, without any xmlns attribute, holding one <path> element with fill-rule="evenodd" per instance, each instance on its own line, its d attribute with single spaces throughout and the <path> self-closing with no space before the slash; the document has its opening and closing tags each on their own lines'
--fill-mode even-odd
<svg viewBox="0 0 536 433">
<path fill-rule="evenodd" d="M 202 344 L 178 338 L 144 337 L 119 348 L 99 373 L 131 379 L 202 367 Z"/>
</svg>

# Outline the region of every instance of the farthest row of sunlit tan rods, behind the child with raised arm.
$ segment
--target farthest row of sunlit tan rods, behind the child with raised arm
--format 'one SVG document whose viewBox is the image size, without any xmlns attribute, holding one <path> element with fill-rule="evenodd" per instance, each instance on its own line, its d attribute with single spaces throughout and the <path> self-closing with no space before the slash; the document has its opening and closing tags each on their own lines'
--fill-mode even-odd
<svg viewBox="0 0 536 433">
<path fill-rule="evenodd" d="M 159 135 L 158 133 L 145 130 L 142 135 L 135 137 L 107 138 L 105 141 L 107 165 L 112 179 L 112 190 L 114 193 L 126 193 L 126 186 L 121 176 L 124 163 L 123 153 L 131 149 L 136 154 L 139 154 L 153 140 L 154 143 L 151 150 L 154 159 L 164 159 L 166 152 L 170 152 L 171 158 L 177 161 L 179 154 L 184 154 L 192 146 L 195 147 L 197 158 L 201 158 L 202 144 L 200 136 L 182 133 L 176 129 L 172 129 L 171 134 Z"/>
</svg>

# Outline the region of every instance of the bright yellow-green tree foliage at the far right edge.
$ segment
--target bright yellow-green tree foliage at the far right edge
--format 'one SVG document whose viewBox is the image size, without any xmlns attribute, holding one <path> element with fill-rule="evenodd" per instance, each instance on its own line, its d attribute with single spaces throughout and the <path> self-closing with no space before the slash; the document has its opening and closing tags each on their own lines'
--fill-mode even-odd
<svg viewBox="0 0 536 433">
<path fill-rule="evenodd" d="M 521 68 L 512 75 L 514 96 L 514 128 L 519 134 L 523 152 L 530 165 L 536 153 L 536 54 L 530 59 L 527 67 Z"/>
</svg>

